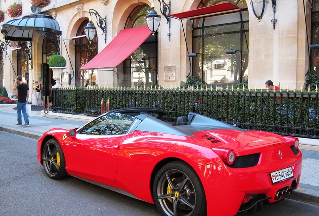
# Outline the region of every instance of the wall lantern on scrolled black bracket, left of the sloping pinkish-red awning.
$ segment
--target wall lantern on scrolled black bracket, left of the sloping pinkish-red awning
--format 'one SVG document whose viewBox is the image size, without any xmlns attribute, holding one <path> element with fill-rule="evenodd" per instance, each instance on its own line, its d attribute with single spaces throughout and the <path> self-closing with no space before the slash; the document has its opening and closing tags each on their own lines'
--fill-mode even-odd
<svg viewBox="0 0 319 216">
<path fill-rule="evenodd" d="M 89 41 L 92 41 L 95 37 L 95 34 L 96 34 L 96 27 L 94 26 L 92 19 L 91 19 L 91 15 L 93 14 L 96 17 L 97 26 L 99 28 L 101 28 L 101 30 L 105 34 L 104 40 L 106 43 L 106 15 L 105 15 L 105 18 L 103 19 L 100 16 L 100 14 L 94 9 L 89 9 L 89 13 L 90 13 L 89 23 L 84 27 L 84 32 L 85 32 L 87 39 Z"/>
</svg>

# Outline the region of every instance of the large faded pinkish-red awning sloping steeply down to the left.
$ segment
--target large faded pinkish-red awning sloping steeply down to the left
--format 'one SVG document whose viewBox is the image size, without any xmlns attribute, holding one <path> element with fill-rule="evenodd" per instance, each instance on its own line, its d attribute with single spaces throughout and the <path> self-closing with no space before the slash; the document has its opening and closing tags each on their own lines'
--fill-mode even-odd
<svg viewBox="0 0 319 216">
<path fill-rule="evenodd" d="M 116 67 L 130 56 L 151 34 L 147 26 L 121 30 L 94 58 L 79 70 Z"/>
</svg>

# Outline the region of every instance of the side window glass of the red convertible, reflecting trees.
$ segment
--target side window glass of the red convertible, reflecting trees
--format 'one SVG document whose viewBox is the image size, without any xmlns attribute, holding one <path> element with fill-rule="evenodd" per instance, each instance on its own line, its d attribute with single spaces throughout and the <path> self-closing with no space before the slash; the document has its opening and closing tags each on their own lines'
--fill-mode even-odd
<svg viewBox="0 0 319 216">
<path fill-rule="evenodd" d="M 88 123 L 79 133 L 87 135 L 122 135 L 127 132 L 134 119 L 134 116 L 128 114 L 110 113 Z"/>
</svg>

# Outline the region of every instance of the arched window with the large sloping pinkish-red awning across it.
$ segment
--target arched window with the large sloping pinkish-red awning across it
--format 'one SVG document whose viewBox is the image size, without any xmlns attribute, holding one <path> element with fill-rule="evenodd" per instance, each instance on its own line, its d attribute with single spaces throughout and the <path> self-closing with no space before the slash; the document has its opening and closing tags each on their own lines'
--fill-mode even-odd
<svg viewBox="0 0 319 216">
<path fill-rule="evenodd" d="M 150 7 L 139 5 L 127 18 L 125 29 L 147 25 L 145 16 Z M 146 41 L 123 62 L 121 86 L 154 87 L 158 84 L 158 34 L 150 35 Z"/>
</svg>

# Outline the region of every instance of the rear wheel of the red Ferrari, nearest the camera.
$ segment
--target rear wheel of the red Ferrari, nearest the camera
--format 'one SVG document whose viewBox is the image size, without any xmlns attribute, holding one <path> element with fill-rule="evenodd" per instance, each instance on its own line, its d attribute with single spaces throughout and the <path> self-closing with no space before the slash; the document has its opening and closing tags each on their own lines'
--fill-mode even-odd
<svg viewBox="0 0 319 216">
<path fill-rule="evenodd" d="M 153 198 L 162 215 L 206 215 L 206 197 L 196 172 L 186 163 L 170 162 L 157 172 Z"/>
</svg>

